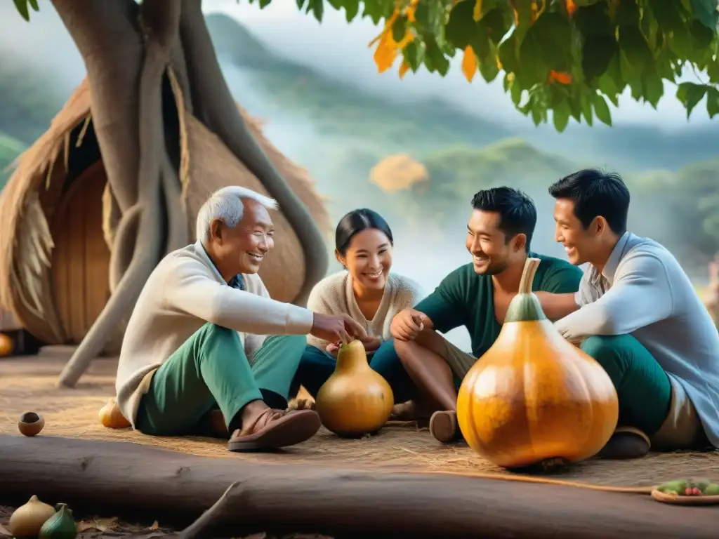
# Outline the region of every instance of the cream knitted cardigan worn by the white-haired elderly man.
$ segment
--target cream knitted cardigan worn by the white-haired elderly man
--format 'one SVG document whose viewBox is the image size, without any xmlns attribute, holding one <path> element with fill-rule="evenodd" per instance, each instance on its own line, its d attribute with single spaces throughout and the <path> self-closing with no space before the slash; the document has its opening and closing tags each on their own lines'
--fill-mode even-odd
<svg viewBox="0 0 719 539">
<path fill-rule="evenodd" d="M 270 299 L 259 275 L 243 277 L 245 290 L 229 287 L 199 241 L 157 264 L 132 311 L 117 366 L 117 403 L 133 428 L 152 373 L 204 323 L 238 331 L 248 359 L 265 335 L 311 331 L 311 310 Z"/>
</svg>

